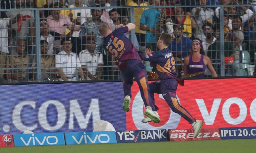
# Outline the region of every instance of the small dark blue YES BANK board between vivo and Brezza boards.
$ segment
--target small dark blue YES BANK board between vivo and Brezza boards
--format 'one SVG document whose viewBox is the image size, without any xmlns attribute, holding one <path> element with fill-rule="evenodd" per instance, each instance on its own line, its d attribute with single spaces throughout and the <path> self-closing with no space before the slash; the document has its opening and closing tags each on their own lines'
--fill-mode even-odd
<svg viewBox="0 0 256 153">
<path fill-rule="evenodd" d="M 166 130 L 118 131 L 117 143 L 125 142 L 163 142 L 167 141 Z"/>
</svg>

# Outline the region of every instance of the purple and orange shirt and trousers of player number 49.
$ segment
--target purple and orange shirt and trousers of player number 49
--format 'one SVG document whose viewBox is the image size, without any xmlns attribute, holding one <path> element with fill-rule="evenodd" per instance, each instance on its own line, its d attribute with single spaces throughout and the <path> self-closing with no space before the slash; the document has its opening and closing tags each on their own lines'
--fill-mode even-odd
<svg viewBox="0 0 256 153">
<path fill-rule="evenodd" d="M 154 93 L 161 93 L 173 112 L 180 114 L 189 123 L 195 122 L 196 119 L 177 100 L 176 68 L 172 51 L 167 48 L 148 55 L 140 54 L 140 57 L 144 61 L 150 61 L 151 65 L 156 67 L 160 79 L 159 82 L 155 81 L 149 84 L 150 97 L 153 99 L 153 103 L 155 104 Z"/>
</svg>

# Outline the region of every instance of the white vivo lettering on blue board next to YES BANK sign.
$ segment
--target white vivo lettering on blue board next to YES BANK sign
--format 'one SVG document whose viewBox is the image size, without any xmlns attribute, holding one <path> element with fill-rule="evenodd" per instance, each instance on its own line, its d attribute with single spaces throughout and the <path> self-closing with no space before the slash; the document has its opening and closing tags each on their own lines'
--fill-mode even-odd
<svg viewBox="0 0 256 153">
<path fill-rule="evenodd" d="M 72 138 L 75 140 L 75 142 L 77 144 L 81 144 L 82 142 L 83 142 L 83 144 L 95 143 L 95 142 L 97 142 L 97 140 L 100 143 L 108 143 L 110 140 L 108 134 L 96 134 L 95 136 L 92 136 L 92 135 L 90 136 L 90 135 L 86 135 L 85 132 L 78 139 L 76 139 L 76 137 L 74 135 L 72 135 Z"/>
</svg>

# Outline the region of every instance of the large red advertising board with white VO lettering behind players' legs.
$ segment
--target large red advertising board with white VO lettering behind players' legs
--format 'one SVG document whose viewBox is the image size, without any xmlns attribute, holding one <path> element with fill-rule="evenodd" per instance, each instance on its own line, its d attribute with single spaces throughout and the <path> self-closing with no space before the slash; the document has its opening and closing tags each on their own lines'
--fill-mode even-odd
<svg viewBox="0 0 256 153">
<path fill-rule="evenodd" d="M 152 82 L 152 81 L 149 81 Z M 185 80 L 177 99 L 203 128 L 256 126 L 256 78 Z M 145 110 L 136 82 L 132 85 L 127 130 L 187 129 L 188 122 L 170 110 L 162 94 L 155 94 L 160 123 L 141 123 Z"/>
</svg>

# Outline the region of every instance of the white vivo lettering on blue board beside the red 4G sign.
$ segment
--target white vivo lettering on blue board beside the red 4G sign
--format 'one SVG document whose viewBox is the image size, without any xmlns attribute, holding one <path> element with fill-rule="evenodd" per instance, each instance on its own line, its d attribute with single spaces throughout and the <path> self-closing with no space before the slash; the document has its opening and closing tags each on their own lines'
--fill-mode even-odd
<svg viewBox="0 0 256 153">
<path fill-rule="evenodd" d="M 38 137 L 34 136 L 34 134 L 32 134 L 32 136 L 29 137 L 28 141 L 26 142 L 22 137 L 20 137 L 20 140 L 26 145 L 31 145 L 31 140 L 32 140 L 32 143 L 33 143 L 33 146 L 36 145 L 36 142 L 39 144 L 39 145 L 44 145 L 44 142 L 46 141 L 47 144 L 49 145 L 55 145 L 58 143 L 58 138 L 54 135 L 50 135 L 50 136 L 44 136 L 43 139 L 39 140 Z"/>
</svg>

